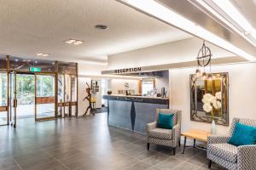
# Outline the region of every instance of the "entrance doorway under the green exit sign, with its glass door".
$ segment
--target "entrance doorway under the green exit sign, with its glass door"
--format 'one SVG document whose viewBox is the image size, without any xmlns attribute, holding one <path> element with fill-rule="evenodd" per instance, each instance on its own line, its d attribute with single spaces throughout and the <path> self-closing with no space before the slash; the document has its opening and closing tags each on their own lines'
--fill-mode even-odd
<svg viewBox="0 0 256 170">
<path fill-rule="evenodd" d="M 41 121 L 55 118 L 55 75 L 43 73 L 10 73 L 10 122 Z"/>
</svg>

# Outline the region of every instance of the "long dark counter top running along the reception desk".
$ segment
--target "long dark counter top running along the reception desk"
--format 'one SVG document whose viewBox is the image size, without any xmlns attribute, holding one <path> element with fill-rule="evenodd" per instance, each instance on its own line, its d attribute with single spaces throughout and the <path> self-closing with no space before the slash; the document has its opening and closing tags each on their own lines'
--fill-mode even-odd
<svg viewBox="0 0 256 170">
<path fill-rule="evenodd" d="M 126 96 L 126 95 L 113 94 L 113 95 L 103 95 L 103 99 L 169 105 L 169 98 L 161 98 L 161 97 L 154 98 L 154 97 L 147 97 L 147 96 L 132 96 L 132 95 Z"/>
</svg>

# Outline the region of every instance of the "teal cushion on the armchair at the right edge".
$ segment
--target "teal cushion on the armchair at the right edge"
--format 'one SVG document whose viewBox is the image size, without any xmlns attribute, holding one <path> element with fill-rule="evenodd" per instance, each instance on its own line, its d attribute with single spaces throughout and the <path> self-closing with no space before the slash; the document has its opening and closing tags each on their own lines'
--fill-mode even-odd
<svg viewBox="0 0 256 170">
<path fill-rule="evenodd" d="M 256 127 L 251 127 L 241 124 L 240 122 L 236 122 L 234 132 L 228 143 L 236 146 L 255 144 Z"/>
</svg>

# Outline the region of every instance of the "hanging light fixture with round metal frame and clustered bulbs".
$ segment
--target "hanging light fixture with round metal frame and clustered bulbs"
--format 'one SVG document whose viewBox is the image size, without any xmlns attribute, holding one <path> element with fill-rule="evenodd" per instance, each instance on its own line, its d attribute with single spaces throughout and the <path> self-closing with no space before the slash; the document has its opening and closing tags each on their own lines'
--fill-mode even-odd
<svg viewBox="0 0 256 170">
<path fill-rule="evenodd" d="M 203 77 L 204 79 L 212 80 L 212 71 L 211 71 L 211 59 L 212 59 L 212 53 L 211 49 L 208 48 L 205 44 L 205 41 L 203 42 L 202 47 L 199 49 L 199 52 L 197 54 L 197 69 L 195 71 L 195 75 L 197 77 Z M 206 72 L 206 66 L 210 65 L 210 73 L 207 74 Z M 203 67 L 203 72 L 201 73 L 200 67 Z"/>
</svg>

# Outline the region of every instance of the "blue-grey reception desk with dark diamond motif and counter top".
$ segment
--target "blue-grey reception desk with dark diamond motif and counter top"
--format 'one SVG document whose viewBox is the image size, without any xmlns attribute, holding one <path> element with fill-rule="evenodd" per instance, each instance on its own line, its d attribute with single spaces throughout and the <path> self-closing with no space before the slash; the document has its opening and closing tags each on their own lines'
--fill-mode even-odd
<svg viewBox="0 0 256 170">
<path fill-rule="evenodd" d="M 146 133 L 146 124 L 154 122 L 156 109 L 169 108 L 169 98 L 104 95 L 108 99 L 108 125 Z"/>
</svg>

